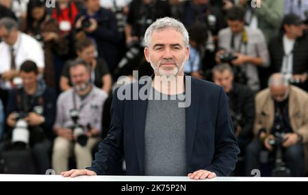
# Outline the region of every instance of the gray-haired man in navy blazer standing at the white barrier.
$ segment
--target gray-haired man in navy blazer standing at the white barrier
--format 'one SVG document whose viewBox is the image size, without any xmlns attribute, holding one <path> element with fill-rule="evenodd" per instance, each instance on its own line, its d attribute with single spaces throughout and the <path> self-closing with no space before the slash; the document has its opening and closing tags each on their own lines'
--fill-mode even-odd
<svg viewBox="0 0 308 195">
<path fill-rule="evenodd" d="M 146 29 L 144 56 L 153 77 L 114 92 L 110 131 L 92 166 L 62 172 L 64 177 L 110 174 L 123 151 L 127 175 L 198 180 L 231 173 L 239 149 L 227 96 L 220 86 L 184 75 L 188 39 L 184 25 L 173 18 L 158 19 Z M 145 98 L 140 96 L 144 90 Z M 129 96 L 123 99 L 121 92 Z"/>
</svg>

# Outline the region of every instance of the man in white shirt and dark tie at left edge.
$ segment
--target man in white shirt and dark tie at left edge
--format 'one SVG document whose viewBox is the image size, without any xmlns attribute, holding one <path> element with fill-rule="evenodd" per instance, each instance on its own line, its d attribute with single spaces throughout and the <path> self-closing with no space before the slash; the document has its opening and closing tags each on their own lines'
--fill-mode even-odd
<svg viewBox="0 0 308 195">
<path fill-rule="evenodd" d="M 35 62 L 39 72 L 43 73 L 44 51 L 38 41 L 18 31 L 18 24 L 12 18 L 1 18 L 0 38 L 0 89 L 3 90 L 1 99 L 5 99 L 2 95 L 21 80 L 16 78 L 23 62 Z"/>
</svg>

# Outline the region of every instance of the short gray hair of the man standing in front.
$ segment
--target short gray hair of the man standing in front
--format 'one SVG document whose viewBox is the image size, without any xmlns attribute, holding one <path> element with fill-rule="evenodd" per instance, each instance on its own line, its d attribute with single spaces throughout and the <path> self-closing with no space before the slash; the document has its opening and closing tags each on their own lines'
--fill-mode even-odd
<svg viewBox="0 0 308 195">
<path fill-rule="evenodd" d="M 162 29 L 167 29 L 167 28 L 172 28 L 178 31 L 183 35 L 183 42 L 184 46 L 188 47 L 188 41 L 189 41 L 189 35 L 187 29 L 184 27 L 183 23 L 177 21 L 175 18 L 159 18 L 157 19 L 154 23 L 152 23 L 148 29 L 146 29 L 146 32 L 144 34 L 144 43 L 146 47 L 150 46 L 151 42 L 151 36 L 153 34 L 153 31 L 155 30 L 162 30 Z"/>
</svg>

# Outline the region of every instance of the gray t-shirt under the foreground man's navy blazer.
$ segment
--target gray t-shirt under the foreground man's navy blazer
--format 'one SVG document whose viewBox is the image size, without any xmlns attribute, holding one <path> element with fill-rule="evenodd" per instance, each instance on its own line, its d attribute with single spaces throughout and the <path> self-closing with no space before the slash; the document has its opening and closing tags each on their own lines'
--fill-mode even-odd
<svg viewBox="0 0 308 195">
<path fill-rule="evenodd" d="M 153 92 L 150 92 L 151 95 Z M 144 175 L 187 174 L 185 108 L 178 107 L 178 99 L 167 97 L 168 100 L 161 98 L 148 102 L 144 132 Z"/>
</svg>

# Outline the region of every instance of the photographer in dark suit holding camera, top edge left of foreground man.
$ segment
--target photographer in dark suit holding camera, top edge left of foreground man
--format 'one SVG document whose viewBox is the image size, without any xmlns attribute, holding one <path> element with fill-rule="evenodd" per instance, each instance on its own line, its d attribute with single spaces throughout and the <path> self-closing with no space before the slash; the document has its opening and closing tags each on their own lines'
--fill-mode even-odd
<svg viewBox="0 0 308 195">
<path fill-rule="evenodd" d="M 106 60 L 112 72 L 118 64 L 116 17 L 110 10 L 101 8 L 99 0 L 84 0 L 84 7 L 76 16 L 75 40 L 94 40 L 98 56 Z"/>
</svg>

